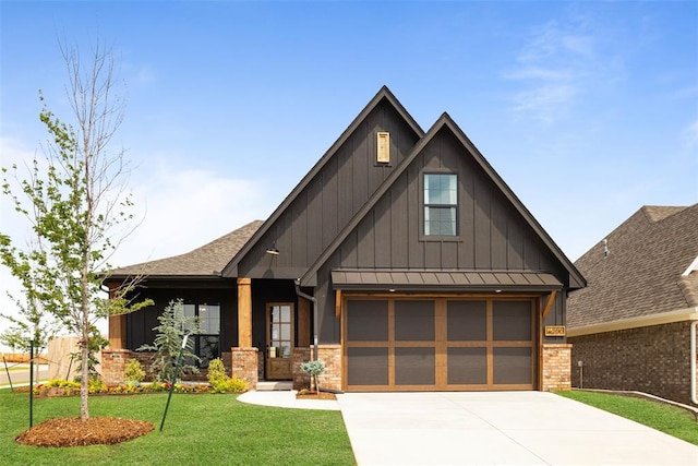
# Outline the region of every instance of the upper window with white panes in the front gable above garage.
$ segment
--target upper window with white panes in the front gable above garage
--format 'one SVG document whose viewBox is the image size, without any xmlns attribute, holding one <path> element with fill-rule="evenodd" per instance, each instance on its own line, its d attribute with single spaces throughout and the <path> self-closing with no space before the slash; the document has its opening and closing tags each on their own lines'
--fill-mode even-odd
<svg viewBox="0 0 698 466">
<path fill-rule="evenodd" d="M 424 175 L 424 236 L 456 236 L 458 178 L 456 175 Z"/>
</svg>

